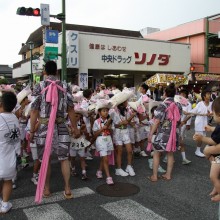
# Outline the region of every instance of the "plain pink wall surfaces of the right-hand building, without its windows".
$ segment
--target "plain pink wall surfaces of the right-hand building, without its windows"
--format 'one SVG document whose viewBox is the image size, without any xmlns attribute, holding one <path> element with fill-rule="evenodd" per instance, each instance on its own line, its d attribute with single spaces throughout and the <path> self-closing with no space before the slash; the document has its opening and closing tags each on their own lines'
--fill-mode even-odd
<svg viewBox="0 0 220 220">
<path fill-rule="evenodd" d="M 173 42 L 191 44 L 191 63 L 196 72 L 205 72 L 206 54 L 206 22 L 207 19 L 199 19 L 186 24 L 176 26 L 164 31 L 145 35 L 147 39 L 169 40 Z M 217 34 L 220 31 L 220 18 L 209 20 L 209 33 Z M 209 72 L 220 73 L 220 58 L 209 58 Z"/>
</svg>

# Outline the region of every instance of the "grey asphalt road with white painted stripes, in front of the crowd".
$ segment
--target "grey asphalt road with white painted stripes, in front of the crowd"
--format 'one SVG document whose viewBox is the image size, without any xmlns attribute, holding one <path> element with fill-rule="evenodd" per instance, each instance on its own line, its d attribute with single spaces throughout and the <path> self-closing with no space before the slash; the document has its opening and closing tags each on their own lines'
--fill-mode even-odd
<svg viewBox="0 0 220 220">
<path fill-rule="evenodd" d="M 51 190 L 53 196 L 44 199 L 44 204 L 35 205 L 36 187 L 30 182 L 32 168 L 19 172 L 18 188 L 13 191 L 11 200 L 13 209 L 0 219 L 169 219 L 169 220 L 214 220 L 218 219 L 218 203 L 210 200 L 212 183 L 209 180 L 210 165 L 206 159 L 194 155 L 195 143 L 193 130 L 187 133 L 187 158 L 189 165 L 181 164 L 180 152 L 175 153 L 173 179 L 152 183 L 147 179 L 151 175 L 148 159 L 134 159 L 135 177 L 118 177 L 111 173 L 115 182 L 133 183 L 140 192 L 129 197 L 106 197 L 98 194 L 96 188 L 104 183 L 98 180 L 95 172 L 98 158 L 88 161 L 89 180 L 71 177 L 71 186 L 75 198 L 64 200 L 63 180 L 58 162 L 53 164 Z M 161 162 L 166 168 L 166 164 Z M 126 164 L 123 165 L 125 168 Z"/>
</svg>

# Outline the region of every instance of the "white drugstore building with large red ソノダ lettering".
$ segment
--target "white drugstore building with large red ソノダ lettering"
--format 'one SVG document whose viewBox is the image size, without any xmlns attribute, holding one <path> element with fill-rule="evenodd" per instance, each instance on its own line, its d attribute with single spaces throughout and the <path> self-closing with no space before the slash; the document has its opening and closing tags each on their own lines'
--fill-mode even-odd
<svg viewBox="0 0 220 220">
<path fill-rule="evenodd" d="M 132 31 L 107 29 L 108 31 L 104 32 L 101 31 L 102 28 L 87 31 L 77 27 L 67 26 L 67 78 L 69 82 L 78 83 L 82 88 L 95 88 L 100 83 L 118 87 L 123 84 L 136 86 L 156 73 L 189 73 L 188 43 L 143 39 L 138 36 L 138 32 Z M 32 33 L 27 42 L 34 42 L 34 36 Z M 58 43 L 59 53 L 60 42 L 61 35 Z M 38 67 L 33 68 L 33 71 L 42 69 L 45 46 L 48 45 L 43 44 L 41 39 L 33 50 L 41 54 L 37 60 Z M 13 77 L 30 74 L 30 54 L 28 48 L 24 47 L 20 54 L 23 57 L 27 54 L 26 59 L 14 64 Z M 60 57 L 57 63 L 60 69 Z"/>
</svg>

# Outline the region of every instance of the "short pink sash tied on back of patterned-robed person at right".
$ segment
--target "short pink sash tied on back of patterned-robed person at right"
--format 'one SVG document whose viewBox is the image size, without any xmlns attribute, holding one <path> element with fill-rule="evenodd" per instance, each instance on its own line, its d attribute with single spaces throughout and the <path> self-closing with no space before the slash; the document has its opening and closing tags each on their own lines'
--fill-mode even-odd
<svg viewBox="0 0 220 220">
<path fill-rule="evenodd" d="M 167 112 L 167 119 L 172 121 L 171 133 L 170 133 L 170 137 L 169 137 L 169 140 L 166 146 L 166 151 L 175 152 L 176 151 L 176 125 L 177 125 L 177 122 L 180 120 L 180 112 L 175 102 L 172 102 L 169 105 L 169 107 L 166 109 L 166 112 Z"/>
</svg>

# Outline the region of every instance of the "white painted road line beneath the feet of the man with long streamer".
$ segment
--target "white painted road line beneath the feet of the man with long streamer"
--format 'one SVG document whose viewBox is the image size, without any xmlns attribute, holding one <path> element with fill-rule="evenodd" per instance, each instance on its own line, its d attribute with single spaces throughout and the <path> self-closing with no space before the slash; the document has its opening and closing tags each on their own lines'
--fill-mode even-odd
<svg viewBox="0 0 220 220">
<path fill-rule="evenodd" d="M 83 197 L 83 196 L 87 196 L 87 195 L 91 195 L 91 194 L 95 193 L 93 190 L 91 190 L 88 187 L 73 189 L 72 192 L 73 192 L 74 198 Z M 37 206 L 34 199 L 35 199 L 35 196 L 14 199 L 11 201 L 12 205 L 13 205 L 13 209 L 26 208 L 26 207 L 30 207 L 30 206 Z M 62 201 L 62 200 L 65 200 L 65 198 L 63 196 L 63 191 L 53 193 L 52 196 L 49 198 L 43 198 L 41 204 L 54 203 L 54 202 L 58 202 L 58 201 Z"/>
</svg>

